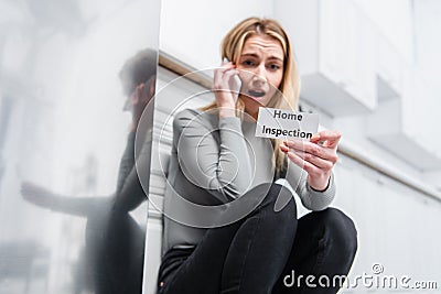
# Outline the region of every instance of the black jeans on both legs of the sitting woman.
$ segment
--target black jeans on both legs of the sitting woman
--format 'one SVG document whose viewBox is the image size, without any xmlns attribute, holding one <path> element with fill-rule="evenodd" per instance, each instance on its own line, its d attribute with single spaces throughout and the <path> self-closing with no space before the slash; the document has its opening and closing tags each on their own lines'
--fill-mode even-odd
<svg viewBox="0 0 441 294">
<path fill-rule="evenodd" d="M 279 194 L 290 196 L 286 187 L 272 184 L 245 218 L 208 229 L 194 250 L 169 250 L 159 272 L 159 293 L 336 293 L 338 284 L 325 284 L 320 276 L 332 282 L 348 273 L 357 250 L 353 221 L 335 208 L 297 219 L 293 197 L 276 213 Z M 308 275 L 315 277 L 309 285 Z"/>
</svg>

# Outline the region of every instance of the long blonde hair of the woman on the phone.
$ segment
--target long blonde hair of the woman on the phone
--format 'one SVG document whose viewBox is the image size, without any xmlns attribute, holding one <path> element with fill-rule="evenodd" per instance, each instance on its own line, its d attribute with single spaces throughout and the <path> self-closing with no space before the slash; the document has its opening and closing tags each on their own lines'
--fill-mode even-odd
<svg viewBox="0 0 441 294">
<path fill-rule="evenodd" d="M 279 91 L 275 94 L 267 107 L 280 108 L 289 110 L 298 110 L 300 78 L 295 62 L 291 52 L 291 42 L 287 32 L 281 25 L 270 19 L 248 18 L 238 23 L 224 37 L 220 46 L 222 58 L 228 58 L 234 63 L 238 63 L 245 42 L 252 35 L 268 35 L 279 41 L 284 53 L 283 59 L 283 77 L 279 85 Z M 202 108 L 202 110 L 211 110 L 217 108 L 216 101 Z M 239 98 L 236 102 L 236 116 L 243 118 L 244 101 Z M 273 148 L 273 166 L 276 176 L 280 176 L 284 168 L 284 153 L 280 151 L 279 145 L 282 140 L 271 139 Z"/>
</svg>

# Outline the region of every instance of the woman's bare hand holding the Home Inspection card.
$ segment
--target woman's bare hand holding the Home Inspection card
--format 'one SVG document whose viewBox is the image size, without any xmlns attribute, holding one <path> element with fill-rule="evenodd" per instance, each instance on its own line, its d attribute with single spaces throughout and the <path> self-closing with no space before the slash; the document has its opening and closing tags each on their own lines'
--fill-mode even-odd
<svg viewBox="0 0 441 294">
<path fill-rule="evenodd" d="M 287 140 L 280 150 L 288 159 L 308 172 L 308 184 L 316 190 L 327 188 L 331 171 L 337 162 L 338 131 L 321 131 L 310 141 Z"/>
</svg>

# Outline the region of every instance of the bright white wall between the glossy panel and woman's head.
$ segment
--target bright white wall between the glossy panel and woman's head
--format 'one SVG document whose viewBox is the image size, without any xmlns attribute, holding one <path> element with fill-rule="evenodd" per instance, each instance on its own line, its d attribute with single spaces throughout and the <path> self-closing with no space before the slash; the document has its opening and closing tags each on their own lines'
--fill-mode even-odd
<svg viewBox="0 0 441 294">
<path fill-rule="evenodd" d="M 240 20 L 271 17 L 265 0 L 163 0 L 160 50 L 198 68 L 220 65 L 220 41 Z"/>
</svg>

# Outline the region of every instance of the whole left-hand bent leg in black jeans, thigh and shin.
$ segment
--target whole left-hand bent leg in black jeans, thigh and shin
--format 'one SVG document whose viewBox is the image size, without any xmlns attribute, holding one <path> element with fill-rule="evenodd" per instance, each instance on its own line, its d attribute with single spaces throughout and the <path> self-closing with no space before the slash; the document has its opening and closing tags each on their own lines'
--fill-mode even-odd
<svg viewBox="0 0 441 294">
<path fill-rule="evenodd" d="M 284 209 L 273 211 L 279 193 L 290 192 L 280 185 L 270 185 L 252 213 L 228 226 L 208 229 L 160 293 L 271 293 L 297 228 L 293 198 Z"/>
</svg>

